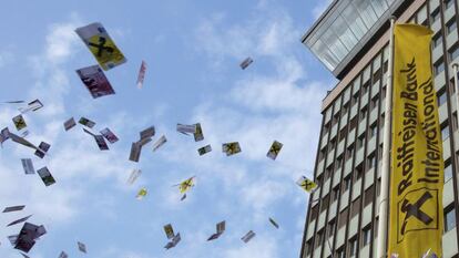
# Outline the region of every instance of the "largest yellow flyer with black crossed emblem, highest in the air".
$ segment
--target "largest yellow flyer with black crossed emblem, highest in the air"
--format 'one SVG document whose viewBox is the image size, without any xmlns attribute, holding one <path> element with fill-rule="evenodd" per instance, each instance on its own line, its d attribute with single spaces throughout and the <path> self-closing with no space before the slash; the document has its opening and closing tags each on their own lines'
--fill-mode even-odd
<svg viewBox="0 0 459 258">
<path fill-rule="evenodd" d="M 101 23 L 94 22 L 78 28 L 75 32 L 86 44 L 103 70 L 108 71 L 126 62 L 123 53 Z"/>
</svg>

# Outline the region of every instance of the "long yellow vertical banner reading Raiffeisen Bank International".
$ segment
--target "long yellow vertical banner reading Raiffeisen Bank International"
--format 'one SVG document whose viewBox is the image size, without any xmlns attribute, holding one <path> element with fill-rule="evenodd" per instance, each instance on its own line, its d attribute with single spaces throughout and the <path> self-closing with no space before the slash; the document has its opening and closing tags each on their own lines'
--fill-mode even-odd
<svg viewBox="0 0 459 258">
<path fill-rule="evenodd" d="M 443 155 L 431 35 L 417 24 L 394 30 L 389 257 L 442 256 Z"/>
</svg>

